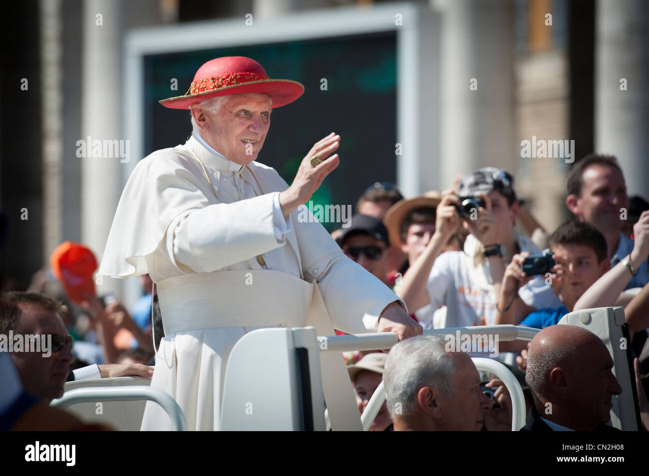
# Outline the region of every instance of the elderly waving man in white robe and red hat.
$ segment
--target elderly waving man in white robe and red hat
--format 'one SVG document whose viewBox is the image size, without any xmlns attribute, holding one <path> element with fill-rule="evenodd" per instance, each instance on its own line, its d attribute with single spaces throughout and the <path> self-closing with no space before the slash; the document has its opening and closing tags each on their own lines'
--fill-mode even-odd
<svg viewBox="0 0 649 476">
<path fill-rule="evenodd" d="M 186 95 L 160 101 L 191 111 L 190 139 L 140 161 L 117 205 L 99 273 L 149 273 L 156 284 L 165 337 L 151 386 L 177 400 L 189 429 L 219 429 L 227 357 L 251 330 L 311 324 L 320 333 L 324 313 L 325 328 L 354 334 L 422 332 L 322 225 L 298 220 L 297 207 L 339 164 L 340 137 L 318 141 L 290 187 L 255 161 L 271 109 L 303 91 L 250 58 L 205 63 Z M 141 428 L 171 421 L 149 402 Z"/>
</svg>

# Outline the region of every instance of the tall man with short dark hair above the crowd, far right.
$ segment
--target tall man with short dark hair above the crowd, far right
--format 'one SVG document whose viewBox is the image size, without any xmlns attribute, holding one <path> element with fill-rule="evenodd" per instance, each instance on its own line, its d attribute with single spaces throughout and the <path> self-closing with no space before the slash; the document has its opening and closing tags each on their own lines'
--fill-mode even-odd
<svg viewBox="0 0 649 476">
<path fill-rule="evenodd" d="M 633 240 L 622 233 L 628 218 L 629 200 L 624 174 L 613 155 L 591 153 L 574 164 L 567 179 L 566 206 L 580 221 L 593 225 L 606 238 L 607 257 L 611 266 L 624 260 L 633 249 Z M 646 261 L 630 256 L 637 270 L 628 288 L 641 288 L 649 282 Z"/>
</svg>

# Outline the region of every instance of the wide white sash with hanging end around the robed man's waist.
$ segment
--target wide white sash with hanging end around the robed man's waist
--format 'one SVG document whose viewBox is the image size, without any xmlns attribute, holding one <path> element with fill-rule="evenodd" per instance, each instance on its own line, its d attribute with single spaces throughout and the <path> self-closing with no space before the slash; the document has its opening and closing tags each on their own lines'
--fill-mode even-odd
<svg viewBox="0 0 649 476">
<path fill-rule="evenodd" d="M 313 326 L 318 335 L 334 335 L 331 317 L 317 282 L 271 269 L 191 273 L 158 283 L 165 335 L 197 328 Z M 321 352 L 324 400 L 332 429 L 362 431 L 356 398 L 343 356 Z M 340 413 L 332 409 L 341 409 Z"/>
</svg>

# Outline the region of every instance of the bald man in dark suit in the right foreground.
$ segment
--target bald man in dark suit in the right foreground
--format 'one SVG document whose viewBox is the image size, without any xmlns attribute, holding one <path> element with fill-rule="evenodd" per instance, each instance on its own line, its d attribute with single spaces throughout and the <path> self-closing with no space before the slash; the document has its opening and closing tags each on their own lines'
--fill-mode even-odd
<svg viewBox="0 0 649 476">
<path fill-rule="evenodd" d="M 521 431 L 618 431 L 606 425 L 613 395 L 622 393 L 612 368 L 611 354 L 592 332 L 564 325 L 541 330 L 527 354 L 534 406 Z"/>
</svg>

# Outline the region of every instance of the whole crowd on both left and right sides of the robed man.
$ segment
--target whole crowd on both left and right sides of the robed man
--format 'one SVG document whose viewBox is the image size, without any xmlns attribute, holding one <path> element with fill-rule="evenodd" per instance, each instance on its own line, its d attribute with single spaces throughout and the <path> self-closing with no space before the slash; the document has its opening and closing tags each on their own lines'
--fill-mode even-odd
<svg viewBox="0 0 649 476">
<path fill-rule="evenodd" d="M 482 168 L 441 194 L 411 199 L 394 185 L 376 183 L 361 195 L 350 226 L 332 236 L 345 255 L 395 290 L 424 329 L 484 324 L 542 329 L 532 343 L 499 347 L 501 355 L 517 356 L 510 368 L 526 396 L 524 431 L 611 431 L 606 425 L 611 396 L 622 391 L 611 356 L 596 335 L 557 323 L 573 310 L 624 306 L 631 352 L 638 357 L 642 421 L 649 427 L 646 202 L 635 198 L 644 209 L 630 208 L 615 158 L 589 155 L 568 177 L 566 204 L 574 217 L 548 233 L 517 198 L 513 181 L 506 171 Z M 463 207 L 467 198 L 479 206 Z M 546 245 L 546 256 L 554 259 L 547 273 L 524 270 L 526 258 L 541 255 Z M 3 372 L 3 380 L 19 385 L 19 408 L 34 405 L 34 414 L 56 413 L 40 403 L 62 396 L 69 380 L 153 375 L 151 315 L 153 310 L 157 316 L 159 343 L 160 307 L 151 296 L 151 278 L 140 279 L 143 296 L 132 313 L 112 296 L 87 295 L 74 304 L 47 279 L 46 270 L 34 275 L 26 291 L 3 293 L 0 334 L 53 336 L 49 358 L 11 354 L 16 372 Z M 2 353 L 5 369 L 7 358 Z M 481 376 L 467 354 L 448 352 L 437 337 L 411 337 L 389 354 L 354 352 L 345 359 L 360 413 L 384 382 L 387 401 L 371 431 L 511 429 L 511 399 L 502 381 Z M 588 378 L 591 374 L 596 378 Z M 552 414 L 544 412 L 548 402 Z M 32 421 L 21 419 L 16 408 L 14 403 L 3 414 L 3 429 Z M 51 429 L 87 426 L 72 417 L 51 421 Z"/>
</svg>

